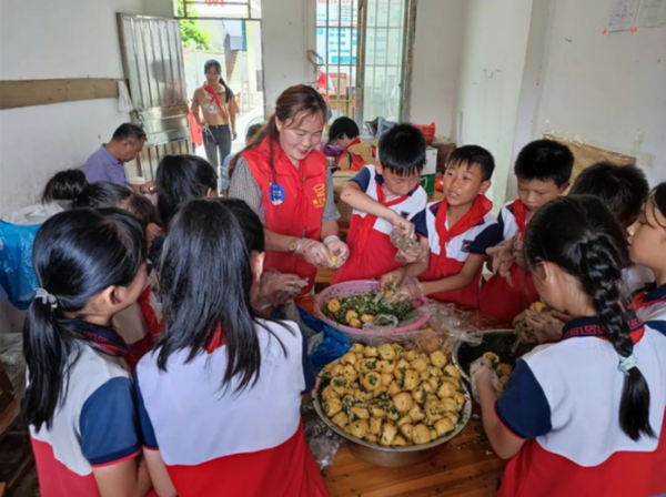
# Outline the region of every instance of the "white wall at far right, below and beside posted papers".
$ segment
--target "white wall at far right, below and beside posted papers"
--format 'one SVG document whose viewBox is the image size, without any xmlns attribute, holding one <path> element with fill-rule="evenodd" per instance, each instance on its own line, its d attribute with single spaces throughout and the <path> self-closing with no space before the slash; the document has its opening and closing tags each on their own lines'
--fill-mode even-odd
<svg viewBox="0 0 666 497">
<path fill-rule="evenodd" d="M 648 179 L 666 181 L 666 27 L 604 36 L 609 3 L 554 1 L 534 136 L 549 121 L 555 131 L 652 155 Z"/>
</svg>

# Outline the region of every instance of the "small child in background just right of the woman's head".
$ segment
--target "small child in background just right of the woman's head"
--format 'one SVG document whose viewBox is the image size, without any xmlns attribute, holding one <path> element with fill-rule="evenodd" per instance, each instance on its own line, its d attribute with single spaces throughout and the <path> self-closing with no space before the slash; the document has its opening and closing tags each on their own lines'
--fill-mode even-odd
<svg viewBox="0 0 666 497">
<path fill-rule="evenodd" d="M 375 148 L 359 138 L 359 125 L 350 118 L 337 118 L 329 129 L 329 143 L 342 149 L 335 166 L 343 171 L 361 171 L 364 165 L 376 164 Z"/>
</svg>

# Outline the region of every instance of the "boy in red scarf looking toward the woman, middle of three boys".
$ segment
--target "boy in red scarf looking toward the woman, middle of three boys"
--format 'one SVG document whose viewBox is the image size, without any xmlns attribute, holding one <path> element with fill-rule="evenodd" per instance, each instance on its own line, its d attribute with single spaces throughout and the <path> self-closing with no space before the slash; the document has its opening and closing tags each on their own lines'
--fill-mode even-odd
<svg viewBox="0 0 666 497">
<path fill-rule="evenodd" d="M 393 298 L 430 295 L 467 307 L 478 306 L 478 281 L 486 248 L 496 243 L 497 220 L 485 193 L 495 169 L 493 155 L 476 145 L 456 149 L 444 174 L 445 201 L 434 202 L 414 217 L 428 262 L 416 262 L 387 274 L 383 286 L 402 285 Z M 422 283 L 403 281 L 421 275 Z"/>
</svg>

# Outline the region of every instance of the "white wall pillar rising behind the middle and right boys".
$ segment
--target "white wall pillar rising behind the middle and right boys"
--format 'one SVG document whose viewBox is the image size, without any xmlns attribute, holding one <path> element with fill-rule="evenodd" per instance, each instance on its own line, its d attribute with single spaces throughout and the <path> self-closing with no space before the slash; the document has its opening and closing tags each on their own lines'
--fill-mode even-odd
<svg viewBox="0 0 666 497">
<path fill-rule="evenodd" d="M 495 156 L 490 196 L 504 202 L 527 53 L 532 0 L 470 0 L 454 125 L 458 145 L 478 144 Z"/>
</svg>

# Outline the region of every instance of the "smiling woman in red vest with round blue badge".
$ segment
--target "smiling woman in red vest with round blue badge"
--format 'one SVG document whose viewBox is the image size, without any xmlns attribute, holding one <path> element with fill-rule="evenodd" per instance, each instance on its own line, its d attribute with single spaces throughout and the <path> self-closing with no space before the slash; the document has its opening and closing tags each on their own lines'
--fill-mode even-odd
<svg viewBox="0 0 666 497">
<path fill-rule="evenodd" d="M 266 271 L 307 280 L 317 267 L 339 267 L 349 256 L 340 240 L 340 213 L 333 179 L 321 142 L 326 102 L 313 88 L 287 88 L 275 113 L 235 160 L 229 196 L 244 200 L 259 215 L 266 235 Z"/>
</svg>

